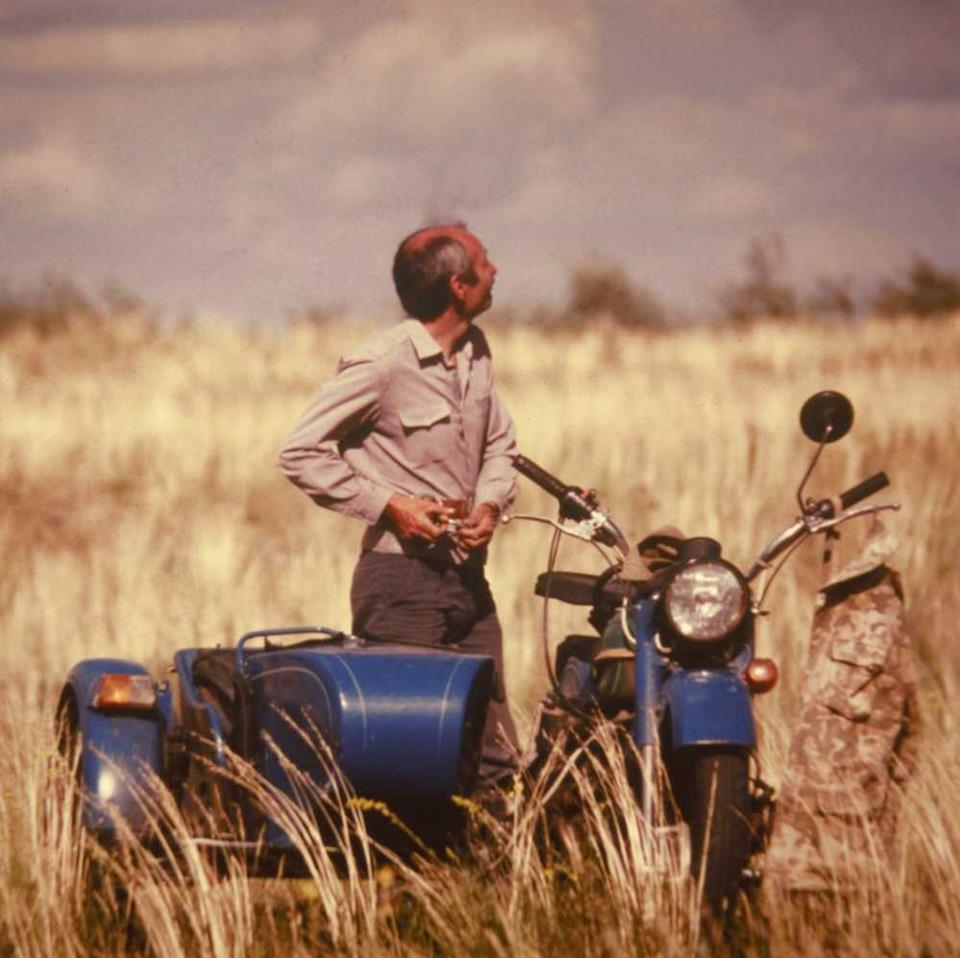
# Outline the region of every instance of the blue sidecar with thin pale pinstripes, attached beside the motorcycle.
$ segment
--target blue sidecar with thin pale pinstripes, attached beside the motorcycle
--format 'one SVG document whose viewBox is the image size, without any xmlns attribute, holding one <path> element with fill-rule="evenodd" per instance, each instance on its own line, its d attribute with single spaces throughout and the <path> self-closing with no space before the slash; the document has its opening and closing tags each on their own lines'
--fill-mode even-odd
<svg viewBox="0 0 960 958">
<path fill-rule="evenodd" d="M 401 818 L 437 822 L 475 786 L 492 686 L 485 656 L 266 629 L 234 648 L 181 649 L 162 681 L 126 660 L 78 663 L 60 741 L 76 756 L 84 825 L 103 841 L 121 822 L 148 830 L 146 796 L 161 782 L 181 807 L 208 822 L 219 807 L 258 849 L 282 852 L 289 836 L 232 781 L 233 755 L 291 797 L 299 776 L 320 790 L 342 776 Z"/>
</svg>

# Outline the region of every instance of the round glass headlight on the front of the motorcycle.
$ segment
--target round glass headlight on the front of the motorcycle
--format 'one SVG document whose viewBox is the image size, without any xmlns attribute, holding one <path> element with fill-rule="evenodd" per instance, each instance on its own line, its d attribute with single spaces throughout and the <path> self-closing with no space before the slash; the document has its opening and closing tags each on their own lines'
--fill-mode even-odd
<svg viewBox="0 0 960 958">
<path fill-rule="evenodd" d="M 712 642 L 729 635 L 747 611 L 747 589 L 729 565 L 698 562 L 667 586 L 664 608 L 685 639 Z"/>
</svg>

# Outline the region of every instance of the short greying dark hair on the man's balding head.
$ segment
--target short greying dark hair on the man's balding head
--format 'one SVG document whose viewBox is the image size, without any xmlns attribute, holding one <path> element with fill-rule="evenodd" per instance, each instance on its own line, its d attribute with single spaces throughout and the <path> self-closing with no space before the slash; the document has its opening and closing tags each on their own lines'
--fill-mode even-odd
<svg viewBox="0 0 960 958">
<path fill-rule="evenodd" d="M 460 223 L 428 226 L 406 237 L 393 258 L 393 285 L 409 316 L 429 320 L 450 305 L 450 280 L 473 278 L 470 254 L 452 236 L 439 233 L 422 245 L 414 242 L 425 232 L 463 229 Z"/>
</svg>

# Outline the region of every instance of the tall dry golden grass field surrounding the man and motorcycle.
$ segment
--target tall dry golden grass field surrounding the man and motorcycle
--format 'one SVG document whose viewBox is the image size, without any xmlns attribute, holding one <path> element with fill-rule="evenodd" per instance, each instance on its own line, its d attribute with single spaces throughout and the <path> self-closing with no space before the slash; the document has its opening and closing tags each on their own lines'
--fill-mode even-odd
<svg viewBox="0 0 960 958">
<path fill-rule="evenodd" d="M 853 431 L 827 451 L 811 491 L 836 492 L 885 469 L 889 497 L 903 504 L 892 520 L 903 539 L 896 565 L 924 719 L 904 854 L 857 895 L 818 908 L 761 897 L 742 920 L 740 947 L 954 952 L 960 317 L 660 337 L 602 327 L 550 336 L 499 326 L 496 317 L 485 328 L 527 455 L 599 489 L 632 536 L 672 523 L 721 539 L 740 565 L 793 516 L 811 451 L 797 425 L 803 399 L 827 387 L 851 397 Z M 116 654 L 159 675 L 181 646 L 231 643 L 261 626 L 349 624 L 360 530 L 314 507 L 274 459 L 338 353 L 363 335 L 335 322 L 276 333 L 158 330 L 127 317 L 48 338 L 22 330 L 0 343 L 0 733 L 8 742 L 0 755 L 0 954 L 707 947 L 689 889 L 656 887 L 639 846 L 617 845 L 599 812 L 599 837 L 574 841 L 556 858 L 537 851 L 532 826 L 518 821 L 456 866 L 397 864 L 352 880 L 321 870 L 276 882 L 249 879 L 239 862 L 217 875 L 197 859 L 177 879 L 133 849 L 119 877 L 90 880 L 94 853 L 64 814 L 51 774 L 51 711 L 73 662 Z M 550 504 L 527 485 L 515 509 L 549 512 Z M 508 526 L 489 567 L 508 691 L 524 728 L 547 686 L 532 595 L 547 540 L 543 527 Z M 596 556 L 565 546 L 561 565 L 596 569 Z M 774 586 L 774 614 L 759 636 L 761 654 L 782 673 L 759 708 L 761 759 L 774 783 L 817 577 L 811 546 Z M 577 610 L 555 606 L 551 621 L 555 641 L 583 629 Z"/>
</svg>

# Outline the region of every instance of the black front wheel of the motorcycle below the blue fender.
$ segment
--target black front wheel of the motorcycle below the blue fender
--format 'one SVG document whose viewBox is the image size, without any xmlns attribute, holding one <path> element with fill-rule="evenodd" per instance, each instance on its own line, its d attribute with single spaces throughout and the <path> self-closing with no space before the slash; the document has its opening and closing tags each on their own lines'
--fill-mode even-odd
<svg viewBox="0 0 960 958">
<path fill-rule="evenodd" d="M 684 749 L 671 763 L 674 795 L 690 828 L 694 880 L 720 914 L 736 896 L 750 857 L 749 753 L 745 749 Z"/>
</svg>

